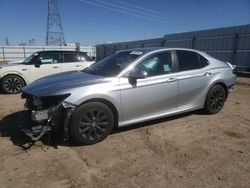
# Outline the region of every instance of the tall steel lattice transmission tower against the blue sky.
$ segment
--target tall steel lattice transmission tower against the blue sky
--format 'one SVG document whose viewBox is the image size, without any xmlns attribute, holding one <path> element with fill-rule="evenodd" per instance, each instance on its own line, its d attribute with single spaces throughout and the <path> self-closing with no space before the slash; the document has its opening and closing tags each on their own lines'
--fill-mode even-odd
<svg viewBox="0 0 250 188">
<path fill-rule="evenodd" d="M 48 0 L 46 46 L 66 45 L 59 13 L 58 0 Z"/>
</svg>

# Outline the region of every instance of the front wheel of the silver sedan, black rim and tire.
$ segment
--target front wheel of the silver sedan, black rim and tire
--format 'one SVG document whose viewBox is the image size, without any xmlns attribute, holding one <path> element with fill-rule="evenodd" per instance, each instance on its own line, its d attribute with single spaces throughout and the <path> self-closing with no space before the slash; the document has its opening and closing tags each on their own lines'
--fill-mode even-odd
<svg viewBox="0 0 250 188">
<path fill-rule="evenodd" d="M 100 102 L 89 102 L 74 112 L 69 127 L 71 139 L 80 145 L 90 145 L 105 139 L 114 126 L 111 109 Z"/>
</svg>

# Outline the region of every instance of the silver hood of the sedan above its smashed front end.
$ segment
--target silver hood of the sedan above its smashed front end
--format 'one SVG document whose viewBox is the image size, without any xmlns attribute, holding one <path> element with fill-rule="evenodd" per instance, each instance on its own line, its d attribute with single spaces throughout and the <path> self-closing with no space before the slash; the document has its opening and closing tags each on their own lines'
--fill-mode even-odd
<svg viewBox="0 0 250 188">
<path fill-rule="evenodd" d="M 69 93 L 70 89 L 110 82 L 106 77 L 71 71 L 38 79 L 25 86 L 22 91 L 35 96 L 52 96 Z"/>
</svg>

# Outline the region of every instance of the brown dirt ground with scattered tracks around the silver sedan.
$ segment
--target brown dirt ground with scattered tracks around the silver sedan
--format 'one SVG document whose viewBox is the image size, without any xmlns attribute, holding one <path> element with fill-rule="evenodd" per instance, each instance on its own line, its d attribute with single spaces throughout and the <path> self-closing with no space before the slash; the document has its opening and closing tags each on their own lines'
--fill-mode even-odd
<svg viewBox="0 0 250 188">
<path fill-rule="evenodd" d="M 56 136 L 24 150 L 23 103 L 0 94 L 0 187 L 250 186 L 250 78 L 238 79 L 219 114 L 133 125 L 91 146 Z"/>
</svg>

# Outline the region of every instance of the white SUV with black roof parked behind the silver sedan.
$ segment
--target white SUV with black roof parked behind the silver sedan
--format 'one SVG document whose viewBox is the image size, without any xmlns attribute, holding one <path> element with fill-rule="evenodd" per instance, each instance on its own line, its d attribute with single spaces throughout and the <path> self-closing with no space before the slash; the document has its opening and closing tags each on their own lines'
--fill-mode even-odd
<svg viewBox="0 0 250 188">
<path fill-rule="evenodd" d="M 82 70 L 94 63 L 85 52 L 41 51 L 21 63 L 0 66 L 1 87 L 6 93 L 19 93 L 26 84 L 51 74 Z"/>
</svg>

